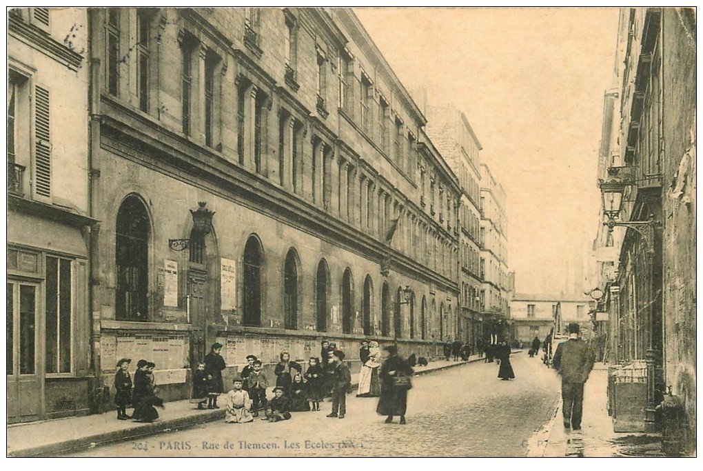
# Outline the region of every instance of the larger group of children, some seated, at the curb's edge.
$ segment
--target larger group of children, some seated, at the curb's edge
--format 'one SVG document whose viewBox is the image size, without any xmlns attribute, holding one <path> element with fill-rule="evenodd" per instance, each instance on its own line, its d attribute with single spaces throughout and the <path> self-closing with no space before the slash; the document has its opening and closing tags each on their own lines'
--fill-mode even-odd
<svg viewBox="0 0 703 471">
<path fill-rule="evenodd" d="M 352 375 L 344 364 L 344 352 L 334 352 L 334 376 L 328 381 L 327 372 L 320 359 L 311 357 L 305 373 L 302 366 L 290 360 L 288 351 L 280 354 L 280 361 L 273 373 L 276 387 L 273 399 L 266 399 L 269 378 L 262 368 L 262 361 L 254 355 L 247 356 L 247 366 L 233 378 L 233 389 L 226 395 L 225 421 L 230 423 L 252 422 L 263 409 L 262 420 L 278 422 L 288 420 L 291 412 L 320 411 L 320 403 L 328 392 L 333 398 L 333 411 L 328 417 L 344 418 L 346 394 L 351 392 Z M 332 385 L 331 390 L 328 385 Z"/>
</svg>

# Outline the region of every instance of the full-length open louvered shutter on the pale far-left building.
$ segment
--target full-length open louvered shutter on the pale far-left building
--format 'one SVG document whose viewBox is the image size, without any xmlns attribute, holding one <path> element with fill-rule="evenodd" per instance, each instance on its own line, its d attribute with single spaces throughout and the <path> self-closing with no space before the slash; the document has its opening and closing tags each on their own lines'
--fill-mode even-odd
<svg viewBox="0 0 703 471">
<path fill-rule="evenodd" d="M 34 188 L 37 195 L 51 197 L 51 131 L 49 90 L 34 87 Z"/>
</svg>

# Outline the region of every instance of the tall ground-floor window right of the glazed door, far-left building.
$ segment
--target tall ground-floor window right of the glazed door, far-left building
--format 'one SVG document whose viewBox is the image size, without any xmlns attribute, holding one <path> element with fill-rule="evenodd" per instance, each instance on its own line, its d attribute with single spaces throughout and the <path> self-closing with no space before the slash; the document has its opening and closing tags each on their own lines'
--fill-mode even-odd
<svg viewBox="0 0 703 471">
<path fill-rule="evenodd" d="M 71 261 L 46 257 L 46 373 L 71 372 Z"/>
</svg>

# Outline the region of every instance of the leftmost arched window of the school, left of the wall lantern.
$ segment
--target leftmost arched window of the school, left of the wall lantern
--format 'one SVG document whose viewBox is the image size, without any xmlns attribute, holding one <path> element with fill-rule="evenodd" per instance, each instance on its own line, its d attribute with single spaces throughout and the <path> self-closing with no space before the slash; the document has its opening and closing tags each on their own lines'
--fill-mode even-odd
<svg viewBox="0 0 703 471">
<path fill-rule="evenodd" d="M 117 212 L 115 264 L 117 295 L 115 317 L 123 321 L 146 321 L 149 285 L 149 217 L 143 202 L 130 195 Z"/>
</svg>

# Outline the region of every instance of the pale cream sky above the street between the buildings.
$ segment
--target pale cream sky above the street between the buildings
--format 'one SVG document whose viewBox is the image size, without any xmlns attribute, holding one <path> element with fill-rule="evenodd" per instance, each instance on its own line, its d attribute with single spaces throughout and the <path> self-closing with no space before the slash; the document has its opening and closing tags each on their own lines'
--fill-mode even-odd
<svg viewBox="0 0 703 471">
<path fill-rule="evenodd" d="M 598 228 L 617 8 L 355 8 L 406 89 L 462 110 L 507 195 L 518 292 L 554 292 Z"/>
</svg>

